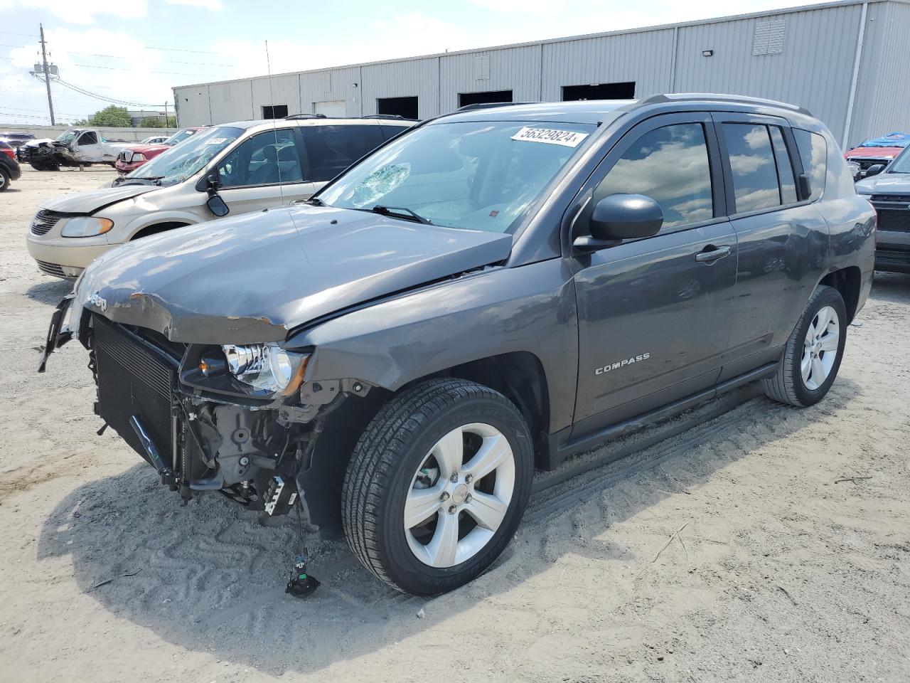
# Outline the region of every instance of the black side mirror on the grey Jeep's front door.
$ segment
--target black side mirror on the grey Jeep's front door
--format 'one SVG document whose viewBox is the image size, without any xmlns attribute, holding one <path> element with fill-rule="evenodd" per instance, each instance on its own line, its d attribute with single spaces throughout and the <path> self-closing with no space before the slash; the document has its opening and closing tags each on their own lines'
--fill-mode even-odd
<svg viewBox="0 0 910 683">
<path fill-rule="evenodd" d="M 622 240 L 656 235 L 663 225 L 663 210 L 644 195 L 614 194 L 597 202 L 588 225 L 591 237 L 576 237 L 572 246 L 581 251 L 596 251 Z"/>
</svg>

